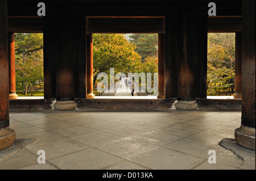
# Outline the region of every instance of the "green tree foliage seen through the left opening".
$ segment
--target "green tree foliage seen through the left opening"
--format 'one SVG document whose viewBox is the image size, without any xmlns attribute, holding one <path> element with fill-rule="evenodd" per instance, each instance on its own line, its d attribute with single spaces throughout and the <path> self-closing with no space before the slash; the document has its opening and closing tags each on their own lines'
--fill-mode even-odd
<svg viewBox="0 0 256 181">
<path fill-rule="evenodd" d="M 16 90 L 33 94 L 43 88 L 43 33 L 16 33 Z"/>
</svg>

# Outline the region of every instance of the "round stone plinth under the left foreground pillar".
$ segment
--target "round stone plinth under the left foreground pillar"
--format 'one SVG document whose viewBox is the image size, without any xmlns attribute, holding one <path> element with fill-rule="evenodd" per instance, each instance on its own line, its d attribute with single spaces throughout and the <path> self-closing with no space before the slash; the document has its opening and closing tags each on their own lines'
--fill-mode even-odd
<svg viewBox="0 0 256 181">
<path fill-rule="evenodd" d="M 0 150 L 9 148 L 15 140 L 16 132 L 9 127 L 0 129 Z"/>
</svg>

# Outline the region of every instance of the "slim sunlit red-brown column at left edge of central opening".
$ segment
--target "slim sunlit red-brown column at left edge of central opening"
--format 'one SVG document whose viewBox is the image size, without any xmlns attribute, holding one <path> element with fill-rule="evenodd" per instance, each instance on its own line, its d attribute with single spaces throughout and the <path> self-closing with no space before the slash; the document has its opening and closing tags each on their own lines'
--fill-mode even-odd
<svg viewBox="0 0 256 181">
<path fill-rule="evenodd" d="M 86 62 L 87 62 L 87 99 L 93 99 L 93 35 L 86 35 Z"/>
</svg>

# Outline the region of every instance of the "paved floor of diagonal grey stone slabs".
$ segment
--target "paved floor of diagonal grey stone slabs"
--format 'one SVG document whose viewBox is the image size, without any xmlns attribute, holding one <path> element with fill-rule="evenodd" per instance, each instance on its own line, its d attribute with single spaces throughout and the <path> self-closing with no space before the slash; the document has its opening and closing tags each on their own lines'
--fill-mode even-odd
<svg viewBox="0 0 256 181">
<path fill-rule="evenodd" d="M 240 122 L 240 111 L 10 111 L 16 138 L 36 141 L 0 169 L 255 169 L 218 145 Z"/>
</svg>

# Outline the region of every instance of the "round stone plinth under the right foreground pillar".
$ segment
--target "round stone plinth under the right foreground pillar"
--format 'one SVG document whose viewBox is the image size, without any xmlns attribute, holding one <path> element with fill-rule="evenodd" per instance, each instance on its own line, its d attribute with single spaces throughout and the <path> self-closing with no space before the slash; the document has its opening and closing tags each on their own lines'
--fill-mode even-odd
<svg viewBox="0 0 256 181">
<path fill-rule="evenodd" d="M 255 151 L 255 128 L 241 125 L 240 128 L 235 129 L 235 138 L 238 145 Z"/>
</svg>

